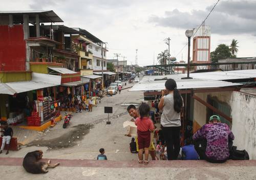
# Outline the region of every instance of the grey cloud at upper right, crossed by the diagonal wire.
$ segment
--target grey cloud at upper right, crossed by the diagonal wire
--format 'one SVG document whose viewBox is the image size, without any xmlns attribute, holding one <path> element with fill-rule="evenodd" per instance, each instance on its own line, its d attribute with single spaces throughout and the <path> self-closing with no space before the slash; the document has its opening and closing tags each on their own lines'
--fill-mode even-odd
<svg viewBox="0 0 256 180">
<path fill-rule="evenodd" d="M 181 12 L 174 9 L 173 11 L 165 11 L 163 17 L 152 15 L 148 20 L 157 26 L 192 29 L 202 23 L 210 9 L 211 7 L 207 7 L 206 10 L 192 10 L 191 12 Z M 212 33 L 255 35 L 255 9 L 256 2 L 224 1 L 212 11 L 205 21 L 205 25 L 211 27 Z"/>
</svg>

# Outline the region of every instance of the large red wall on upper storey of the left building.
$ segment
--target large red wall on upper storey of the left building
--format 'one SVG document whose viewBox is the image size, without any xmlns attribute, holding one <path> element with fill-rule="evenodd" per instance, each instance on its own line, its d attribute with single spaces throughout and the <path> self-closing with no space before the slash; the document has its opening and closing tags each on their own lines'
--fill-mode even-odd
<svg viewBox="0 0 256 180">
<path fill-rule="evenodd" d="M 0 25 L 0 71 L 25 71 L 25 62 L 23 25 Z M 2 66 L 2 63 L 5 65 Z"/>
</svg>

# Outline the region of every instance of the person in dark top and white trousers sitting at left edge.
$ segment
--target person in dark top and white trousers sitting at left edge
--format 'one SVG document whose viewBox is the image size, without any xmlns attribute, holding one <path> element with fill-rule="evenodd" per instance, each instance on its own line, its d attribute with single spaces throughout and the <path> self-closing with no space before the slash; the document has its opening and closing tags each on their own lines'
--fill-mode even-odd
<svg viewBox="0 0 256 180">
<path fill-rule="evenodd" d="M 11 141 L 11 138 L 13 136 L 13 130 L 11 127 L 8 127 L 8 124 L 4 124 L 3 125 L 3 130 L 1 130 L 1 132 L 3 133 L 3 136 L 2 136 L 2 146 L 1 146 L 1 150 L 0 150 L 0 154 L 3 152 L 4 148 L 5 148 L 5 143 L 6 143 L 6 147 L 7 147 L 7 151 L 5 154 L 8 154 L 9 153 L 9 144 L 10 144 L 10 141 Z"/>
</svg>

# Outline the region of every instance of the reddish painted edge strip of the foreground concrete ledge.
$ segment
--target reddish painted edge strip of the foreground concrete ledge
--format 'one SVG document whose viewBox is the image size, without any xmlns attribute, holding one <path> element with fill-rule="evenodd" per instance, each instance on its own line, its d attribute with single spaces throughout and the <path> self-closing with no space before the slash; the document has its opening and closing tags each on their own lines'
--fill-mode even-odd
<svg viewBox="0 0 256 180">
<path fill-rule="evenodd" d="M 43 159 L 47 162 L 49 159 Z M 256 160 L 233 161 L 222 164 L 212 164 L 206 161 L 150 161 L 148 165 L 137 161 L 98 161 L 98 160 L 67 160 L 50 159 L 52 163 L 60 163 L 63 167 L 100 167 L 100 168 L 207 168 L 207 167 L 256 167 Z M 23 158 L 0 158 L 1 166 L 22 166 Z"/>
</svg>

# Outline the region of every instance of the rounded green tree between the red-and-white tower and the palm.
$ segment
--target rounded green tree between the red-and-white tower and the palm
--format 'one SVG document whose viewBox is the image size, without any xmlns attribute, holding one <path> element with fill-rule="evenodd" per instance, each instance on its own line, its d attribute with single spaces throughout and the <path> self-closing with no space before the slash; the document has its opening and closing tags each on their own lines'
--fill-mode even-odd
<svg viewBox="0 0 256 180">
<path fill-rule="evenodd" d="M 219 59 L 231 57 L 229 47 L 226 44 L 220 44 L 215 51 L 210 53 L 211 62 L 217 62 Z"/>
</svg>

